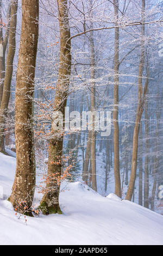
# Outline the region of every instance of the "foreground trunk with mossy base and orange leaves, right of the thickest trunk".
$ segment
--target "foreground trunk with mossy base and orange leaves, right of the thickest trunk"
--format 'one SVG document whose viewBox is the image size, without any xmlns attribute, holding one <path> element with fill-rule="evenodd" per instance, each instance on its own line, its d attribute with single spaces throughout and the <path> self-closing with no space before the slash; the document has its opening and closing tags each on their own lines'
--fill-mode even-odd
<svg viewBox="0 0 163 256">
<path fill-rule="evenodd" d="M 54 111 L 60 111 L 65 117 L 65 107 L 71 74 L 71 43 L 70 41 L 67 43 L 67 40 L 70 38 L 67 0 L 58 0 L 58 15 L 60 27 L 60 63 L 57 88 L 54 97 Z M 56 173 L 61 175 L 61 163 L 59 165 L 55 163 L 58 162 L 58 160 L 61 161 L 62 145 L 63 136 L 54 131 L 54 137 L 49 142 L 48 175 Z M 62 213 L 59 206 L 59 188 L 58 186 L 56 191 L 49 191 L 43 196 L 40 203 L 40 209 L 42 209 L 43 214 Z"/>
</svg>

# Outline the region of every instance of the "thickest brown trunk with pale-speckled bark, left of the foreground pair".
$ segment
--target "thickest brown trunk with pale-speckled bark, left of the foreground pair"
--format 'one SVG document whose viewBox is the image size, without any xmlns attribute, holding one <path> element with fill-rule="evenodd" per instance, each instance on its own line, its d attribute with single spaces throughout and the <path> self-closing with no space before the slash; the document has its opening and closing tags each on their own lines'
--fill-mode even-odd
<svg viewBox="0 0 163 256">
<path fill-rule="evenodd" d="M 14 207 L 26 200 L 28 214 L 35 191 L 35 154 L 32 117 L 39 0 L 22 0 L 22 29 L 15 94 L 16 173 L 9 198 Z M 23 204 L 18 206 L 24 212 Z"/>
</svg>

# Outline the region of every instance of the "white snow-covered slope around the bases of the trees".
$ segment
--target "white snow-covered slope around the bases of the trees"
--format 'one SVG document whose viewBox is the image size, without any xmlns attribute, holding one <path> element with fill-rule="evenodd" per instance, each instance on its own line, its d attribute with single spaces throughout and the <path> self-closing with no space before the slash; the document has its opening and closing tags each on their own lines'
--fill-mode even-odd
<svg viewBox="0 0 163 256">
<path fill-rule="evenodd" d="M 0 185 L 10 194 L 15 159 L 0 153 Z M 65 184 L 63 184 L 65 186 Z M 163 245 L 163 216 L 109 194 L 102 197 L 81 182 L 60 193 L 64 215 L 18 220 L 0 199 L 1 245 Z M 38 196 L 35 194 L 35 202 Z"/>
</svg>

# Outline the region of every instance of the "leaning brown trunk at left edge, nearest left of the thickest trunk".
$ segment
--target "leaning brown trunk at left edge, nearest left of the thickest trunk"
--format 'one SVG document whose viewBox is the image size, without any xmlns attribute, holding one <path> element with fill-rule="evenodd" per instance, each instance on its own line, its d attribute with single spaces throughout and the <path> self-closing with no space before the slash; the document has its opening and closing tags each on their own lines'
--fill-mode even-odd
<svg viewBox="0 0 163 256">
<path fill-rule="evenodd" d="M 5 118 L 7 116 L 8 104 L 10 99 L 10 86 L 13 71 L 13 61 L 15 56 L 16 47 L 16 22 L 17 22 L 17 0 L 11 2 L 11 14 L 10 14 L 10 28 L 9 28 L 9 51 L 7 56 L 7 66 L 5 71 L 3 96 L 0 108 L 0 145 L 3 141 Z"/>
</svg>

